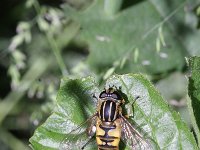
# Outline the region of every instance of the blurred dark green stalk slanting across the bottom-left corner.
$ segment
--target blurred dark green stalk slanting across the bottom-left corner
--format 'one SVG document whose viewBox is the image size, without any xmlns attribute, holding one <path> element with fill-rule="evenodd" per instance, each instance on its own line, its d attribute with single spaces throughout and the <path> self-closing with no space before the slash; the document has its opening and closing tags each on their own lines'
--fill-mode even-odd
<svg viewBox="0 0 200 150">
<path fill-rule="evenodd" d="M 0 128 L 0 139 L 3 143 L 8 145 L 13 150 L 29 150 L 30 148 L 26 146 L 19 139 L 14 137 L 6 129 Z"/>
</svg>

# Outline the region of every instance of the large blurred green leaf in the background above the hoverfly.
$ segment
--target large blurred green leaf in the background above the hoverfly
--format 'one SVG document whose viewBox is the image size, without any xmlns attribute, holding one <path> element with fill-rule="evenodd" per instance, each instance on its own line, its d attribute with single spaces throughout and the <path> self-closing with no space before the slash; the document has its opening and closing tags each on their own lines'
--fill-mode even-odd
<svg viewBox="0 0 200 150">
<path fill-rule="evenodd" d="M 160 3 L 164 2 L 158 2 L 159 8 Z M 120 72 L 140 70 L 153 74 L 183 67 L 186 49 L 173 36 L 174 31 L 169 24 L 164 24 L 165 16 L 163 18 L 153 2 L 137 3 L 113 17 L 108 16 L 103 7 L 103 1 L 96 0 L 91 7 L 81 12 L 69 6 L 63 8 L 67 16 L 71 15 L 81 24 L 79 38 L 89 45 L 87 62 L 94 70 L 107 70 L 113 62 L 122 59 L 129 51 L 131 53 L 128 61 Z M 166 46 L 160 46 L 157 52 L 156 39 L 161 38 L 161 25 L 162 39 L 165 39 Z M 151 31 L 154 28 L 155 30 Z M 137 63 L 134 61 L 135 49 L 139 50 Z"/>
</svg>

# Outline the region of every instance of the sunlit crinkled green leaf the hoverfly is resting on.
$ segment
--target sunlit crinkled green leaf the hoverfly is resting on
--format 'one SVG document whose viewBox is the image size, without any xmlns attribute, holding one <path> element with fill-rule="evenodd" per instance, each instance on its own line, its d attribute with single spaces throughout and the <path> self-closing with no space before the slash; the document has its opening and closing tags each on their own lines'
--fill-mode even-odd
<svg viewBox="0 0 200 150">
<path fill-rule="evenodd" d="M 121 87 L 121 91 L 126 95 L 124 95 L 126 100 L 124 112 L 133 111 L 129 110 L 129 106 L 139 96 L 134 103 L 134 114 L 128 113 L 134 116 L 130 118 L 130 121 L 136 122 L 137 129 L 144 131 L 147 137 L 155 142 L 154 144 L 157 146 L 155 149 L 198 149 L 193 134 L 181 121 L 180 116 L 168 107 L 158 91 L 142 75 L 111 76 L 105 87 L 113 85 Z M 32 148 L 36 150 L 59 149 L 67 133 L 96 111 L 96 101 L 92 98 L 92 94 L 99 94 L 93 78 L 63 79 L 54 113 L 36 129 L 30 139 Z M 86 141 L 87 139 L 85 139 Z M 89 145 L 88 147 L 96 149 L 93 146 Z M 86 149 L 88 149 L 87 146 Z M 126 149 L 130 148 L 126 147 Z"/>
</svg>

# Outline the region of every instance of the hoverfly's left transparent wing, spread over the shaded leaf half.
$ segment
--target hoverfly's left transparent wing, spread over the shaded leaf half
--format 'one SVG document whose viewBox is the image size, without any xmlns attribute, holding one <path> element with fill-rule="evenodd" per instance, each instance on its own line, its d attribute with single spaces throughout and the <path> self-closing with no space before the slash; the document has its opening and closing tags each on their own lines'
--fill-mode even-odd
<svg viewBox="0 0 200 150">
<path fill-rule="evenodd" d="M 96 132 L 97 115 L 87 119 L 76 129 L 66 134 L 65 139 L 60 143 L 60 150 L 84 150 L 95 149 L 95 132 Z M 97 146 L 96 146 L 97 147 Z"/>
</svg>

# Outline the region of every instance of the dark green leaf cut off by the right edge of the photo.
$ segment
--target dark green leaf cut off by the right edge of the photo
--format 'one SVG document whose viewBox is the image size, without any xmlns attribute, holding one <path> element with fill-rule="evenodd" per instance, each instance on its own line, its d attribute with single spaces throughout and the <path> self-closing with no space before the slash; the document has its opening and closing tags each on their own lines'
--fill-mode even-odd
<svg viewBox="0 0 200 150">
<path fill-rule="evenodd" d="M 191 100 L 189 101 L 189 110 L 192 113 L 192 124 L 200 144 L 200 57 L 191 57 L 189 59 L 189 67 L 192 75 L 189 77 L 188 94 Z"/>
</svg>

